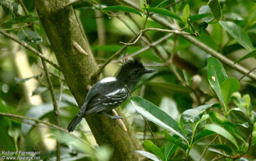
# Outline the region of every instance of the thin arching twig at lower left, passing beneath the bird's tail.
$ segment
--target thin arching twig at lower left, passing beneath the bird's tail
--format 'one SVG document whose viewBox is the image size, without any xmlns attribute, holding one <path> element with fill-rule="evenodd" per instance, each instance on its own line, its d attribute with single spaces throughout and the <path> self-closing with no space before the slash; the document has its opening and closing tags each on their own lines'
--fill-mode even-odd
<svg viewBox="0 0 256 161">
<path fill-rule="evenodd" d="M 34 119 L 34 118 L 29 118 L 29 117 L 26 117 L 26 116 L 21 116 L 21 115 L 15 115 L 15 114 L 11 114 L 11 113 L 3 113 L 3 112 L 0 112 L 0 115 L 2 116 L 7 116 L 7 117 L 14 117 L 14 118 L 19 118 L 19 119 L 25 119 L 25 120 L 30 120 L 30 121 L 34 121 L 34 122 L 37 122 L 37 123 L 40 123 L 40 124 L 44 124 L 44 125 L 47 125 L 49 127 L 52 127 L 52 128 L 55 128 L 59 131 L 62 131 L 72 137 L 75 137 L 76 139 L 78 139 L 79 141 L 81 142 L 84 142 L 86 145 L 90 146 L 92 149 L 96 150 L 92 145 L 90 145 L 88 142 L 85 142 L 83 139 L 75 136 L 74 134 L 72 133 L 68 133 L 68 131 L 66 129 L 63 129 L 61 127 L 58 127 L 56 125 L 53 125 L 51 123 L 48 123 L 48 122 L 44 122 L 42 120 L 39 120 L 39 119 Z M 96 150 L 97 151 L 97 150 Z"/>
</svg>

